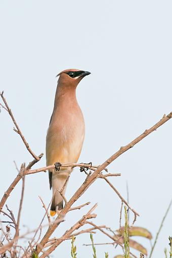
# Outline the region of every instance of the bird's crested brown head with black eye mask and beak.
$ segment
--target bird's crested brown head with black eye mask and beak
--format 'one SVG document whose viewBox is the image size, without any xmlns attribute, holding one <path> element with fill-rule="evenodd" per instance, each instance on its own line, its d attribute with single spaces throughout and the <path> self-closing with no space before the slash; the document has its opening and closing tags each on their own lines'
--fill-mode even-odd
<svg viewBox="0 0 172 258">
<path fill-rule="evenodd" d="M 91 74 L 91 72 L 78 69 L 67 69 L 60 72 L 57 76 L 59 76 L 59 83 L 62 83 L 68 87 L 69 85 L 71 87 L 76 87 L 79 81 L 89 74 Z"/>
</svg>

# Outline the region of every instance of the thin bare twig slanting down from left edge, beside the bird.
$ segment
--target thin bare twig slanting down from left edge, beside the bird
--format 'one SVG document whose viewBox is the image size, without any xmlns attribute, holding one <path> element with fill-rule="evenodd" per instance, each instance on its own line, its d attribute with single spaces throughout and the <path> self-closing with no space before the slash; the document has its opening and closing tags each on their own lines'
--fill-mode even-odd
<svg viewBox="0 0 172 258">
<path fill-rule="evenodd" d="M 3 101 L 4 101 L 4 104 L 6 105 L 6 108 L 7 108 L 7 110 L 8 110 L 8 113 L 9 113 L 9 115 L 11 116 L 11 118 L 12 118 L 12 120 L 13 120 L 13 123 L 15 124 L 15 126 L 16 126 L 16 128 L 17 128 L 17 130 L 16 130 L 16 128 L 14 128 L 14 131 L 20 135 L 20 137 L 21 137 L 21 139 L 22 139 L 24 145 L 26 146 L 27 150 L 30 152 L 30 154 L 32 155 L 32 157 L 38 161 L 40 158 L 37 157 L 37 156 L 33 153 L 33 151 L 30 149 L 28 143 L 26 142 L 26 140 L 25 140 L 25 138 L 24 138 L 24 136 L 23 136 L 23 134 L 22 134 L 22 132 L 21 132 L 21 130 L 20 130 L 20 128 L 19 128 L 19 126 L 18 126 L 18 124 L 17 124 L 15 118 L 14 118 L 14 115 L 13 115 L 11 109 L 9 108 L 9 105 L 8 105 L 6 99 L 5 99 L 4 96 L 3 96 L 3 94 L 4 94 L 4 92 L 0 93 L 0 95 L 1 95 L 1 97 L 2 97 L 2 99 L 3 99 Z"/>
</svg>

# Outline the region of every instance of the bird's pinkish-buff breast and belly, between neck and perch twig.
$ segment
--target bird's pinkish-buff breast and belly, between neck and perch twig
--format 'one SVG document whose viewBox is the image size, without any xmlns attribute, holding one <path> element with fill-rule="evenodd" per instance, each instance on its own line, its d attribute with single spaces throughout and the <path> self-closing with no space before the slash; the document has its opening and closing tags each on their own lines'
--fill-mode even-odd
<svg viewBox="0 0 172 258">
<path fill-rule="evenodd" d="M 80 110 L 79 110 L 80 111 Z M 49 126 L 46 142 L 47 165 L 75 163 L 84 140 L 84 120 L 80 112 L 56 114 Z"/>
</svg>

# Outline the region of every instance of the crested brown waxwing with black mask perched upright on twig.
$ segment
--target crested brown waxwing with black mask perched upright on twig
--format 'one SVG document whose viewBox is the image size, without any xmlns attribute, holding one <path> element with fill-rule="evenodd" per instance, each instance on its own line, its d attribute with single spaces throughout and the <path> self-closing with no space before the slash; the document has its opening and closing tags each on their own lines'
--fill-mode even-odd
<svg viewBox="0 0 172 258">
<path fill-rule="evenodd" d="M 82 111 L 76 100 L 76 87 L 88 71 L 67 69 L 60 72 L 55 94 L 54 109 L 46 137 L 47 166 L 50 190 L 53 190 L 51 216 L 60 213 L 71 167 L 60 167 L 61 163 L 76 163 L 83 145 L 85 124 Z M 59 171 L 56 171 L 59 170 Z M 65 187 L 64 187 L 65 186 Z M 63 189 L 64 188 L 64 189 Z M 63 189 L 62 194 L 60 194 Z"/>
</svg>

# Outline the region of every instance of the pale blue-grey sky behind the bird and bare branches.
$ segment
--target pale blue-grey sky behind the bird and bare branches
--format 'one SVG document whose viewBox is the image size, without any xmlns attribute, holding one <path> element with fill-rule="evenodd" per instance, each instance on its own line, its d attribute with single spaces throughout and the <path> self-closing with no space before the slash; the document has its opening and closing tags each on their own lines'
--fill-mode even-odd
<svg viewBox="0 0 172 258">
<path fill-rule="evenodd" d="M 86 134 L 79 162 L 103 163 L 163 114 L 172 111 L 171 102 L 171 1 L 8 1 L 0 2 L 1 59 L 0 91 L 4 90 L 22 133 L 32 150 L 45 153 L 45 139 L 57 85 L 57 73 L 67 68 L 90 71 L 78 85 L 77 99 L 82 109 Z M 1 188 L 7 190 L 20 166 L 32 160 L 13 123 L 3 109 L 1 121 Z M 136 226 L 149 229 L 155 237 L 171 194 L 172 120 L 117 158 L 109 172 L 121 173 L 110 181 L 140 217 Z M 46 157 L 34 167 L 45 166 Z M 72 196 L 84 181 L 74 169 L 66 191 Z M 7 203 L 17 214 L 21 184 Z M 30 230 L 40 222 L 44 209 L 38 195 L 48 205 L 52 196 L 48 174 L 27 176 L 21 225 Z M 98 202 L 97 225 L 119 227 L 120 199 L 103 180 L 97 180 L 75 203 Z M 90 207 L 91 207 L 90 205 Z M 67 214 L 53 236 L 61 236 L 90 208 Z M 132 218 L 133 214 L 130 213 Z M 169 211 L 152 257 L 164 257 L 168 236 L 172 235 Z M 45 223 L 47 223 L 45 221 Z M 26 231 L 26 228 L 22 232 Z M 95 243 L 110 242 L 101 233 Z M 135 238 L 136 240 L 136 238 Z M 150 250 L 150 243 L 137 238 Z M 76 238 L 77 257 L 92 257 L 89 234 Z M 52 255 L 70 257 L 70 241 Z M 122 253 L 120 247 L 97 246 L 97 256 L 109 258 Z M 169 249 L 169 248 L 168 248 Z M 136 252 L 138 255 L 138 252 Z"/>
</svg>

